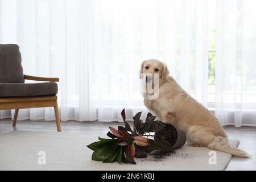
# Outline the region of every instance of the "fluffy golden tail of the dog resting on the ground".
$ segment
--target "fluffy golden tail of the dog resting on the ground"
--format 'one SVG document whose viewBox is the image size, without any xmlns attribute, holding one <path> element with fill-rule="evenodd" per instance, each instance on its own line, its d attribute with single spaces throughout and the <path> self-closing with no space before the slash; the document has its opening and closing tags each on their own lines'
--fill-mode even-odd
<svg viewBox="0 0 256 182">
<path fill-rule="evenodd" d="M 239 158 L 250 158 L 250 155 L 247 154 L 247 152 L 230 146 L 228 143 L 228 140 L 224 137 L 214 138 L 214 140 L 208 145 L 208 148 L 212 150 L 226 152 L 228 154 L 232 154 L 233 156 L 236 156 Z"/>
</svg>

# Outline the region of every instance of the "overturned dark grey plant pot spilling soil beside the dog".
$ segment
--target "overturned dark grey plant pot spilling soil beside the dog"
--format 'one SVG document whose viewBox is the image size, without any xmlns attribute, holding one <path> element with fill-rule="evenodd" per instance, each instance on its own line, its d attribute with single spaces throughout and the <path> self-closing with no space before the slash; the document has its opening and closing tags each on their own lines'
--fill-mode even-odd
<svg viewBox="0 0 256 182">
<path fill-rule="evenodd" d="M 155 133 L 155 140 L 159 141 L 162 137 L 171 143 L 174 150 L 184 146 L 186 135 L 172 123 L 164 123 L 165 127 Z"/>
</svg>

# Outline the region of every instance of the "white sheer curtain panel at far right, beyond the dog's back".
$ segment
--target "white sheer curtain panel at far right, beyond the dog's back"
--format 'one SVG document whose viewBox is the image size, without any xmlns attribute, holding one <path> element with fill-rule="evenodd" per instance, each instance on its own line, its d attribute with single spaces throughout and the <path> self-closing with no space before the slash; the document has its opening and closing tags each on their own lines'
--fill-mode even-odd
<svg viewBox="0 0 256 182">
<path fill-rule="evenodd" d="M 222 125 L 256 126 L 255 6 L 217 1 L 215 110 Z"/>
</svg>

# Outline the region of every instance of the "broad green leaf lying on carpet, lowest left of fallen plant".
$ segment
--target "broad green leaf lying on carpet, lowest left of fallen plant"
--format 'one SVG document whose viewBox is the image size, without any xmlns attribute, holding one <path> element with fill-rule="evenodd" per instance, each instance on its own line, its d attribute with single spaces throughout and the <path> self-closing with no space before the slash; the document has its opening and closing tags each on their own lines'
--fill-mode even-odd
<svg viewBox="0 0 256 182">
<path fill-rule="evenodd" d="M 118 146 L 115 144 L 107 144 L 101 148 L 97 148 L 92 154 L 92 160 L 104 161 L 114 155 L 117 148 Z"/>
</svg>

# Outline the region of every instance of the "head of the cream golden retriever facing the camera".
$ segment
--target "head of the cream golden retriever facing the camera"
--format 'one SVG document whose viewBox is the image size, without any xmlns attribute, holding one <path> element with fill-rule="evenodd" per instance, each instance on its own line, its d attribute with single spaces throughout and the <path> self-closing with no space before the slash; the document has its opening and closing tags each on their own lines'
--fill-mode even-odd
<svg viewBox="0 0 256 182">
<path fill-rule="evenodd" d="M 158 74 L 158 77 L 156 77 L 156 74 Z M 146 83 L 150 84 L 152 80 L 155 81 L 156 78 L 159 78 L 159 82 L 161 80 L 166 80 L 169 75 L 169 71 L 166 64 L 156 59 L 149 59 L 143 61 L 141 64 L 139 78 L 142 78 L 143 75 L 146 77 Z"/>
</svg>

